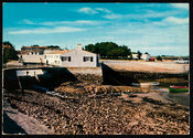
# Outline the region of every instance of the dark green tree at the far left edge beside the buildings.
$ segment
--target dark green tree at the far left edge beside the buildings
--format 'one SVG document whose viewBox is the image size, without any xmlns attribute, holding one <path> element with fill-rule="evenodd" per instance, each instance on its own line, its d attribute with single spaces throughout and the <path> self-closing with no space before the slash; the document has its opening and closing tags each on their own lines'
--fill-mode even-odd
<svg viewBox="0 0 193 138">
<path fill-rule="evenodd" d="M 10 60 L 18 60 L 18 53 L 14 50 L 14 46 L 9 42 L 4 41 L 3 43 L 3 63 L 8 63 Z"/>
</svg>

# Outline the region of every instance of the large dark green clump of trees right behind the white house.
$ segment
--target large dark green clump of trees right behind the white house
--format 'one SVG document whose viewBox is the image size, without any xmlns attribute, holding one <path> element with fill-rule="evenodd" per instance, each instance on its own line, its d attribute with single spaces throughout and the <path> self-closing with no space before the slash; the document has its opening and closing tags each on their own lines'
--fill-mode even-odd
<svg viewBox="0 0 193 138">
<path fill-rule="evenodd" d="M 128 55 L 131 56 L 131 50 L 128 46 L 118 45 L 114 42 L 88 44 L 85 50 L 99 54 L 100 59 L 128 59 Z"/>
</svg>

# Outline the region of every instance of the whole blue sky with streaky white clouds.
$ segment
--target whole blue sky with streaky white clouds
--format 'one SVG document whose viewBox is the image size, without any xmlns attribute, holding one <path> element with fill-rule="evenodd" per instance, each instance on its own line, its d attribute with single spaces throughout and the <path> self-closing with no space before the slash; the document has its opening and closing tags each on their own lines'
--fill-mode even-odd
<svg viewBox="0 0 193 138">
<path fill-rule="evenodd" d="M 97 42 L 151 55 L 189 55 L 189 3 L 3 2 L 3 41 L 75 49 Z"/>
</svg>

